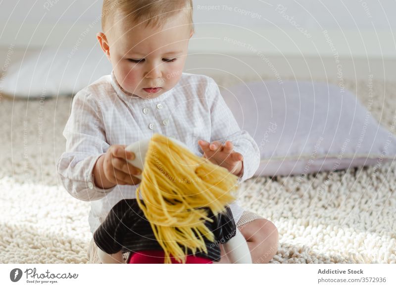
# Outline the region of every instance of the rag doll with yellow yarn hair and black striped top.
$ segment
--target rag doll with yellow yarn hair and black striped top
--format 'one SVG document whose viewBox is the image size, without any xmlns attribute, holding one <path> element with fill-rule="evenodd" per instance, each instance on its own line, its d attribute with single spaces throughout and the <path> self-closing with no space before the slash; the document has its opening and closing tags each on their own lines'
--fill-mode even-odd
<svg viewBox="0 0 396 288">
<path fill-rule="evenodd" d="M 251 263 L 231 209 L 237 177 L 163 135 L 129 145 L 142 170 L 136 198 L 119 201 L 94 233 L 102 263 L 212 263 L 224 245 L 232 263 Z"/>
</svg>

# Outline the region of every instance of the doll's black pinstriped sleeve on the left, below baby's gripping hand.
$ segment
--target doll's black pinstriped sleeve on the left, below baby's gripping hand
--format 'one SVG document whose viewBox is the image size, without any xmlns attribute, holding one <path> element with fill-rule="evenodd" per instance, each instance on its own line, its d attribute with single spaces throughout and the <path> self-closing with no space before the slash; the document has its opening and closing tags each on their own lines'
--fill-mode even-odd
<svg viewBox="0 0 396 288">
<path fill-rule="evenodd" d="M 129 240 L 134 234 L 128 233 L 138 220 L 140 207 L 136 199 L 123 199 L 111 208 L 107 217 L 94 233 L 94 241 L 107 254 L 121 251 L 124 238 Z"/>
</svg>

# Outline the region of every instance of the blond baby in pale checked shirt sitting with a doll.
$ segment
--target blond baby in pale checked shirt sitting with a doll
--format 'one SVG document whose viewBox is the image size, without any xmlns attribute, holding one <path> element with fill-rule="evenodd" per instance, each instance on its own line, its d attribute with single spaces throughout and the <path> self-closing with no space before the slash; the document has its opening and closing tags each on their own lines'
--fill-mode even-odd
<svg viewBox="0 0 396 288">
<path fill-rule="evenodd" d="M 113 70 L 75 95 L 57 162 L 65 189 L 91 202 L 92 233 L 116 203 L 135 198 L 134 175 L 142 171 L 127 161 L 135 155 L 125 147 L 154 133 L 183 142 L 239 182 L 253 176 L 258 146 L 240 130 L 216 83 L 182 72 L 194 34 L 192 0 L 104 0 L 102 30 L 97 38 Z M 230 208 L 252 262 L 267 263 L 277 252 L 276 227 L 238 203 Z M 220 248 L 220 263 L 229 263 Z M 125 263 L 124 252 L 112 257 Z M 93 240 L 88 256 L 100 263 Z"/>
</svg>

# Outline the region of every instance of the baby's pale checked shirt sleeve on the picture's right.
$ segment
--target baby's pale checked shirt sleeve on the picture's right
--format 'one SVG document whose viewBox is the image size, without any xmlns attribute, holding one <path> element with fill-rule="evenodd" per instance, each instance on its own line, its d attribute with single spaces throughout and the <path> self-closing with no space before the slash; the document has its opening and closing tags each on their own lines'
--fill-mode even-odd
<svg viewBox="0 0 396 288">
<path fill-rule="evenodd" d="M 260 164 L 260 150 L 258 145 L 245 130 L 241 130 L 230 108 L 220 94 L 219 87 L 212 78 L 209 78 L 206 89 L 206 99 L 210 107 L 211 137 L 210 142 L 232 142 L 234 151 L 244 157 L 242 175 L 238 182 L 241 183 L 254 175 Z"/>
</svg>

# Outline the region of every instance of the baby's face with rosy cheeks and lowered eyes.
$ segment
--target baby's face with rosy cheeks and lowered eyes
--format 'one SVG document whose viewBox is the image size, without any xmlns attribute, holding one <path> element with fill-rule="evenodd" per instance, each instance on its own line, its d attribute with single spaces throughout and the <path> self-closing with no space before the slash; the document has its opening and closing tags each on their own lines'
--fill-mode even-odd
<svg viewBox="0 0 396 288">
<path fill-rule="evenodd" d="M 124 92 L 155 98 L 178 83 L 193 35 L 188 24 L 186 15 L 179 13 L 160 28 L 134 27 L 120 21 L 111 34 L 98 34 Z"/>
</svg>

